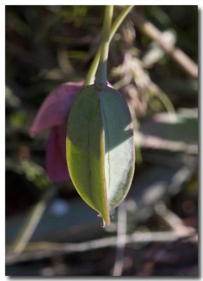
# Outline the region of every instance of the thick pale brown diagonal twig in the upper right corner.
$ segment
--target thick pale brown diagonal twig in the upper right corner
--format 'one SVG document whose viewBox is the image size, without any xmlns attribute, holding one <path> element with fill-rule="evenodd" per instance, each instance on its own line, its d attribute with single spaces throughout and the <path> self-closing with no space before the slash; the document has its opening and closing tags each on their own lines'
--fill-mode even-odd
<svg viewBox="0 0 203 281">
<path fill-rule="evenodd" d="M 176 46 L 169 46 L 166 42 L 162 39 L 162 32 L 160 32 L 155 25 L 152 25 L 152 22 L 148 21 L 140 15 L 138 12 L 133 13 L 133 21 L 135 22 L 136 27 L 139 30 L 147 34 L 151 39 L 156 41 L 159 46 L 161 46 L 166 53 L 168 53 L 171 58 L 180 65 L 183 70 L 191 77 L 196 78 L 198 77 L 198 67 L 197 64 L 188 57 L 180 48 Z"/>
</svg>

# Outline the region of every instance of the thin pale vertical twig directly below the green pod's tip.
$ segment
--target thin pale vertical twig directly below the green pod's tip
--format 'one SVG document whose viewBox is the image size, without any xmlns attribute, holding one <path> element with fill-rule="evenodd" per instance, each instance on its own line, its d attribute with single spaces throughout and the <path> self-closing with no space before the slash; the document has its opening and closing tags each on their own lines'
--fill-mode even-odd
<svg viewBox="0 0 203 281">
<path fill-rule="evenodd" d="M 126 244 L 126 202 L 118 207 L 117 250 L 115 255 L 113 276 L 121 276 L 124 264 L 124 248 Z"/>
</svg>

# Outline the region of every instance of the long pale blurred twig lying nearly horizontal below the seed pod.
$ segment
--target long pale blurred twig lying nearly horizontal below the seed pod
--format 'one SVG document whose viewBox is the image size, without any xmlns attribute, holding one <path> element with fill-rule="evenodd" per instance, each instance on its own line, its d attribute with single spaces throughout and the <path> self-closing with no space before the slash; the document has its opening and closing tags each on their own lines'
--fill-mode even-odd
<svg viewBox="0 0 203 281">
<path fill-rule="evenodd" d="M 194 232 L 195 233 L 195 232 Z M 183 237 L 191 237 L 194 233 L 187 235 L 176 233 L 176 231 L 158 231 L 158 232 L 135 232 L 131 235 L 121 235 L 121 240 L 126 240 L 125 244 L 141 244 L 151 242 L 173 242 Z M 54 243 L 54 242 L 30 242 L 27 244 L 26 251 L 18 257 L 7 259 L 7 264 L 20 261 L 38 260 L 51 257 L 55 254 L 82 253 L 93 249 L 102 249 L 114 247 L 117 244 L 117 236 L 100 238 L 80 243 Z"/>
</svg>

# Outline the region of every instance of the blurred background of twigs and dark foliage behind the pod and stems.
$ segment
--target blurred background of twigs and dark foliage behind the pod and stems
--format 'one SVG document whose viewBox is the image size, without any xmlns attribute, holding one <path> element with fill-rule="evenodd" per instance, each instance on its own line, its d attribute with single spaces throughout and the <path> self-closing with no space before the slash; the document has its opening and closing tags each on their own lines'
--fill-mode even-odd
<svg viewBox="0 0 203 281">
<path fill-rule="evenodd" d="M 29 136 L 48 93 L 86 76 L 103 13 L 6 6 L 6 275 L 197 277 L 197 6 L 136 6 L 110 44 L 108 80 L 136 140 L 131 190 L 110 226 L 71 181 L 48 181 L 49 131 Z"/>
</svg>

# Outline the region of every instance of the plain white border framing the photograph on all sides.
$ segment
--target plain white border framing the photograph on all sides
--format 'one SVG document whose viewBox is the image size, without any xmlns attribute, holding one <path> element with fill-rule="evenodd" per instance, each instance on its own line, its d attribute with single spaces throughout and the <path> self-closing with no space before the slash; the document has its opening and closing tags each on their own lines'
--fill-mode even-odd
<svg viewBox="0 0 203 281">
<path fill-rule="evenodd" d="M 5 5 L 27 5 L 27 1 L 3 1 L 3 4 L 1 2 L 0 6 L 1 6 L 1 15 L 0 15 L 0 30 L 1 30 L 1 58 L 0 58 L 0 62 L 1 62 L 1 95 L 0 95 L 0 112 L 1 112 L 1 118 L 0 118 L 0 124 L 1 124 L 1 166 L 0 166 L 0 171 L 1 171 L 1 225 L 3 224 L 5 226 Z M 183 6 L 187 6 L 187 5 L 198 5 L 199 6 L 199 10 L 201 11 L 201 13 L 199 12 L 199 17 L 202 17 L 202 6 L 203 6 L 203 1 L 201 0 L 196 0 L 196 1 L 188 1 L 188 0 L 184 0 L 184 1 L 107 1 L 107 0 L 103 0 L 103 1 L 79 1 L 79 0 L 75 0 L 75 1 L 53 1 L 53 0 L 46 0 L 43 1 L 43 4 L 41 1 L 39 0 L 35 0 L 35 1 L 29 1 L 30 5 L 110 5 L 110 4 L 115 4 L 115 5 L 167 5 L 167 6 L 171 6 L 171 5 L 183 5 Z M 199 19 L 199 70 L 200 70 L 200 74 L 202 75 L 202 19 Z M 201 47 L 200 47 L 201 46 Z M 199 77 L 200 77 L 199 74 Z M 200 141 L 202 140 L 202 98 L 200 98 L 200 95 L 202 96 L 202 93 L 200 93 L 200 90 L 202 91 L 202 80 L 201 78 L 199 78 L 199 146 Z M 201 120 L 201 121 L 200 121 Z M 201 128 L 201 130 L 200 130 Z M 201 145 L 202 146 L 202 145 Z M 202 195 L 201 189 L 202 189 L 202 149 L 199 149 L 199 194 Z M 202 234 L 202 196 L 199 199 L 199 233 Z M 200 214 L 201 213 L 201 214 Z M 1 262 L 0 262 L 0 280 L 8 280 L 8 277 L 5 277 L 5 252 L 2 250 L 2 247 L 4 249 L 4 244 L 5 244 L 5 231 L 2 230 L 0 231 L 0 237 L 1 237 Z M 202 237 L 201 237 L 202 238 Z M 201 240 L 201 239 L 200 239 Z M 199 243 L 200 245 L 200 243 Z M 202 245 L 201 245 L 202 246 Z M 201 258 L 202 258 L 202 247 L 201 247 L 201 253 L 199 252 L 199 269 L 201 268 Z M 202 271 L 202 270 L 200 270 Z M 202 272 L 201 272 L 202 273 Z M 110 278 L 110 277 L 109 277 Z M 35 278 L 14 278 L 12 277 L 12 280 L 33 280 Z M 39 277 L 36 278 L 37 280 L 44 280 L 41 279 Z M 57 277 L 55 278 L 56 280 L 58 279 Z M 67 277 L 68 280 L 72 280 L 71 277 Z M 84 277 L 84 279 L 88 279 L 88 277 Z M 92 278 L 91 278 L 92 279 Z M 96 277 L 97 280 L 103 280 L 103 278 L 99 278 Z M 108 278 L 105 278 L 108 279 Z M 139 279 L 136 278 L 136 280 L 143 280 L 145 278 Z M 146 278 L 147 279 L 147 278 Z M 152 277 L 152 279 L 156 279 L 155 277 Z M 162 280 L 164 280 L 165 278 L 161 278 Z M 202 280 L 202 277 L 200 278 Z M 53 280 L 53 278 L 49 279 L 46 278 L 46 280 Z M 77 280 L 77 278 L 73 278 L 73 280 Z M 124 277 L 122 277 L 122 280 L 125 280 Z M 128 278 L 126 278 L 126 280 L 128 280 Z M 173 278 L 173 280 L 178 280 L 178 278 Z"/>
</svg>

